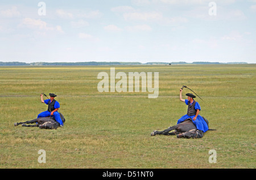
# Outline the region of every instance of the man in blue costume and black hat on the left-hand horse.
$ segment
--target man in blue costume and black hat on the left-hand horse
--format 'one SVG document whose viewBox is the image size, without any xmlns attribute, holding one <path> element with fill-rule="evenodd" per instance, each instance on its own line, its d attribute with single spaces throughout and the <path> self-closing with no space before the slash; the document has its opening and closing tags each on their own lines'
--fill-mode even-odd
<svg viewBox="0 0 256 180">
<path fill-rule="evenodd" d="M 41 96 L 41 102 L 46 103 L 48 105 L 48 110 L 41 112 L 38 115 L 38 118 L 53 116 L 56 122 L 60 123 L 60 127 L 63 127 L 64 124 L 60 118 L 59 112 L 57 111 L 60 108 L 60 103 L 54 99 L 57 95 L 53 93 L 49 93 L 50 99 L 46 99 L 46 100 L 43 99 L 43 94 L 41 94 L 40 96 Z"/>
</svg>

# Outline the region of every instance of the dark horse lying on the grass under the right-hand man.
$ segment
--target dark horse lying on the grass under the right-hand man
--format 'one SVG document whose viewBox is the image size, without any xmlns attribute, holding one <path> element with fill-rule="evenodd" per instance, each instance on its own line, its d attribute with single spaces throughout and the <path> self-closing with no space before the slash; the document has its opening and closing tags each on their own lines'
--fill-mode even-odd
<svg viewBox="0 0 256 180">
<path fill-rule="evenodd" d="M 209 124 L 208 120 L 205 119 L 205 122 L 207 122 L 207 125 Z M 170 132 L 172 130 L 175 130 L 174 132 Z M 213 129 L 209 129 L 213 130 Z M 186 119 L 184 122 L 176 124 L 172 127 L 168 127 L 164 131 L 153 131 L 151 132 L 151 136 L 155 135 L 176 135 L 177 138 L 185 137 L 185 138 L 201 138 L 204 136 L 203 131 L 200 131 L 196 129 L 196 125 L 192 122 L 192 119 Z"/>
</svg>

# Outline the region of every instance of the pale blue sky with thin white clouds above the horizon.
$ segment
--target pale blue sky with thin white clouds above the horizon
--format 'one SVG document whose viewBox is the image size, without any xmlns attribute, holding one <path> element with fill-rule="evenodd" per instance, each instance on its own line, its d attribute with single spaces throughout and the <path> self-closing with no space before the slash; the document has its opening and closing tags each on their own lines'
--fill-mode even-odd
<svg viewBox="0 0 256 180">
<path fill-rule="evenodd" d="M 256 63 L 256 0 L 39 2 L 1 0 L 0 61 Z"/>
</svg>

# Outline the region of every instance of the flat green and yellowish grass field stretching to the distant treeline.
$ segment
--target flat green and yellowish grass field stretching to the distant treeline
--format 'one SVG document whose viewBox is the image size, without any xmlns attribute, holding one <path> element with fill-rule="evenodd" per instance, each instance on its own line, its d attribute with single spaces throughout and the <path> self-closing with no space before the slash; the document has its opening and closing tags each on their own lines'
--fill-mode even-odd
<svg viewBox="0 0 256 180">
<path fill-rule="evenodd" d="M 148 92 L 99 93 L 100 72 L 110 66 L 0 67 L 0 168 L 256 168 L 255 64 L 115 66 L 115 73 L 159 72 L 156 99 Z M 186 114 L 183 85 L 204 99 L 196 98 L 200 115 L 216 131 L 202 139 L 151 137 Z M 43 92 L 58 95 L 64 127 L 14 127 L 47 110 Z M 211 149 L 216 163 L 209 163 Z"/>
</svg>

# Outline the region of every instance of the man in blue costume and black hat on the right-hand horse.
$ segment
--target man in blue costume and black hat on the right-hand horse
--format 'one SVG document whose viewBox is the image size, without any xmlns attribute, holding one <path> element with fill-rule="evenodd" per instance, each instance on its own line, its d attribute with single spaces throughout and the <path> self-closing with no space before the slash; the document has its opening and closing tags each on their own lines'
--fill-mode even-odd
<svg viewBox="0 0 256 180">
<path fill-rule="evenodd" d="M 177 124 L 183 122 L 184 120 L 191 118 L 192 122 L 196 125 L 196 128 L 200 131 L 207 132 L 208 125 L 202 116 L 199 115 L 199 111 L 201 107 L 198 102 L 196 102 L 193 98 L 196 98 L 195 95 L 188 93 L 186 94 L 188 99 L 182 99 L 182 89 L 180 89 L 180 101 L 186 103 L 188 105 L 187 114 L 182 116 L 178 121 Z"/>
</svg>

